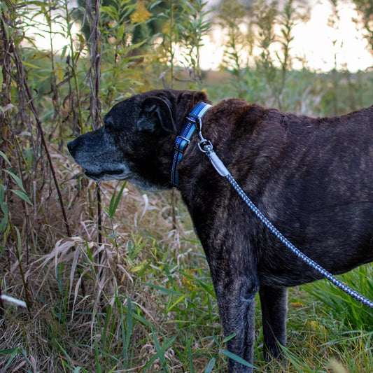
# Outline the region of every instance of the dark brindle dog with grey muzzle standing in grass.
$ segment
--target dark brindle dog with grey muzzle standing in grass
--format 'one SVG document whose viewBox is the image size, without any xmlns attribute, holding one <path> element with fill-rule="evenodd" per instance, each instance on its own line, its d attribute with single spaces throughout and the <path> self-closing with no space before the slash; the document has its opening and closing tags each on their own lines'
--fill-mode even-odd
<svg viewBox="0 0 373 373">
<path fill-rule="evenodd" d="M 68 144 L 97 181 L 171 188 L 176 136 L 204 92 L 155 90 L 121 101 L 104 126 Z M 373 106 L 309 118 L 229 99 L 209 108 L 203 135 L 259 209 L 333 274 L 373 260 Z M 320 279 L 248 209 L 197 147 L 178 166 L 181 195 L 209 262 L 227 348 L 253 361 L 254 298 L 262 306 L 265 358 L 286 345 L 287 288 Z M 229 372 L 251 372 L 229 359 Z"/>
</svg>

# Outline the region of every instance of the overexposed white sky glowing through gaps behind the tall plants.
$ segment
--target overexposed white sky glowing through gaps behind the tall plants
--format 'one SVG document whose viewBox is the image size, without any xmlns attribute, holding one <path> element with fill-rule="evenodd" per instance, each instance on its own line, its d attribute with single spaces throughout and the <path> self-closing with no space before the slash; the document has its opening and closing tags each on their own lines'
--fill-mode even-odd
<svg viewBox="0 0 373 373">
<path fill-rule="evenodd" d="M 213 0 L 210 0 L 213 1 Z M 216 1 L 216 0 L 215 0 Z M 316 71 L 330 71 L 349 69 L 350 71 L 365 70 L 373 66 L 373 57 L 367 50 L 367 41 L 363 38 L 362 31 L 357 30 L 353 22 L 356 11 L 349 3 L 339 2 L 340 20 L 335 28 L 328 26 L 328 18 L 332 14 L 329 0 L 310 0 L 310 14 L 307 23 L 297 24 L 293 31 L 294 41 L 290 53 L 306 61 L 309 69 Z M 74 24 L 75 31 L 78 31 Z M 57 31 L 57 25 L 54 26 Z M 40 30 L 38 30 L 40 31 Z M 61 36 L 54 37 L 57 48 L 62 49 L 66 39 Z M 223 57 L 224 35 L 218 26 L 214 26 L 210 36 L 204 38 L 204 47 L 201 49 L 201 66 L 204 70 L 218 69 Z M 49 48 L 49 40 L 38 37 L 37 44 L 40 48 Z M 255 52 L 259 52 L 257 49 Z M 293 67 L 302 69 L 302 63 L 293 59 Z"/>
</svg>

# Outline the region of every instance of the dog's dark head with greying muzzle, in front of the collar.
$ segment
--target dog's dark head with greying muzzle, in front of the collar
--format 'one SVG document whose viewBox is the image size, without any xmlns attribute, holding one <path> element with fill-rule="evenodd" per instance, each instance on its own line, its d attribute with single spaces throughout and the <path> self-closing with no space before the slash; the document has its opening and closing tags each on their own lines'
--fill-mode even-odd
<svg viewBox="0 0 373 373">
<path fill-rule="evenodd" d="M 128 180 L 145 190 L 170 188 L 174 139 L 204 92 L 155 90 L 116 104 L 104 126 L 67 144 L 73 159 L 96 181 Z"/>
</svg>

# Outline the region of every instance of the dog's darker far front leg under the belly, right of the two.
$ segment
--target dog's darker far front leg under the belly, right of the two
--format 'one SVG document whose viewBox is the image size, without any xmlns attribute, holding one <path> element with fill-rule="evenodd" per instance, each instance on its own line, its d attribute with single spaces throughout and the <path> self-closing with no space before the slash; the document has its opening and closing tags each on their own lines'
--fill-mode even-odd
<svg viewBox="0 0 373 373">
<path fill-rule="evenodd" d="M 288 289 L 260 285 L 262 305 L 264 356 L 266 361 L 281 358 L 281 348 L 286 346 L 286 314 L 288 312 Z"/>
</svg>

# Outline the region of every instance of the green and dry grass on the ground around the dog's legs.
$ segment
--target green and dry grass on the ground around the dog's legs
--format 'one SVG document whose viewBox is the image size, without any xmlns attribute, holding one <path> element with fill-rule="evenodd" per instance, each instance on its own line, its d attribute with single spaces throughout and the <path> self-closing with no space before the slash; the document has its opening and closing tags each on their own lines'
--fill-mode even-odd
<svg viewBox="0 0 373 373">
<path fill-rule="evenodd" d="M 67 157 L 62 159 L 69 164 Z M 83 184 L 71 178 L 76 171 L 71 165 L 62 173 L 63 192 L 71 196 Z M 0 370 L 225 372 L 209 270 L 184 207 L 178 205 L 178 230 L 171 230 L 167 193 L 144 197 L 132 185 L 102 184 L 108 211 L 118 201 L 111 216 L 104 215 L 104 242 L 97 246 L 94 241 L 96 227 L 85 215 L 86 198 L 70 201 L 74 237 L 47 244 L 45 253 L 30 254 L 26 277 L 34 295 L 31 309 L 6 305 Z M 79 193 L 89 195 L 92 188 L 89 182 Z M 120 190 L 122 198 L 113 199 Z M 370 283 L 370 274 L 371 267 L 365 266 L 345 277 L 362 290 L 356 279 Z M 22 298 L 19 276 L 17 270 L 6 270 L 1 288 Z M 372 297 L 368 290 L 367 295 Z M 366 318 L 371 314 L 340 297 L 323 282 L 290 290 L 286 367 L 262 360 L 258 307 L 259 370 L 371 372 L 373 332 Z M 355 324 L 346 321 L 344 312 L 353 315 Z"/>
</svg>

